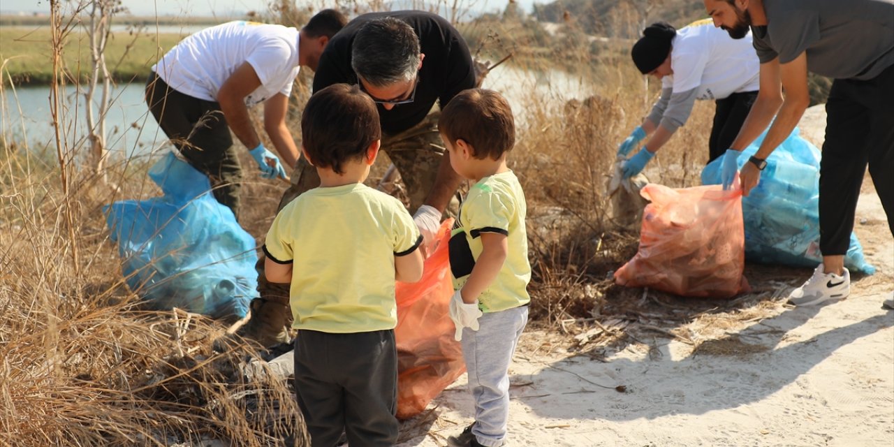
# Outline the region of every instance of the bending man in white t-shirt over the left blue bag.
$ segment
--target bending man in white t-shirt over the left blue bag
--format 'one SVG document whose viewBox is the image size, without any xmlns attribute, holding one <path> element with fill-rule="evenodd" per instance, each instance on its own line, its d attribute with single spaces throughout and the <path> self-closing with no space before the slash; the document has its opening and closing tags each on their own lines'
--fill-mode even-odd
<svg viewBox="0 0 894 447">
<path fill-rule="evenodd" d="M 149 110 L 181 155 L 211 181 L 215 198 L 239 218 L 239 157 L 230 131 L 257 162 L 261 176 L 285 177 L 280 159 L 264 147 L 249 107 L 264 103 L 264 128 L 291 169 L 299 152 L 285 117 L 299 66 L 316 71 L 329 38 L 347 19 L 327 9 L 301 30 L 231 21 L 184 38 L 152 66 Z"/>
</svg>

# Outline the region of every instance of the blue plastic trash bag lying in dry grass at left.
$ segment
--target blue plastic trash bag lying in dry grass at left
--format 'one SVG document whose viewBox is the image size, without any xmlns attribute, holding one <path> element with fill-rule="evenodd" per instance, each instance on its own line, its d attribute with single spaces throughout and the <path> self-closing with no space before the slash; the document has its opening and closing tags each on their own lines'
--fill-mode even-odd
<svg viewBox="0 0 894 447">
<path fill-rule="evenodd" d="M 255 240 L 173 153 L 149 170 L 164 196 L 104 207 L 131 291 L 153 308 L 243 317 L 257 296 Z"/>
</svg>

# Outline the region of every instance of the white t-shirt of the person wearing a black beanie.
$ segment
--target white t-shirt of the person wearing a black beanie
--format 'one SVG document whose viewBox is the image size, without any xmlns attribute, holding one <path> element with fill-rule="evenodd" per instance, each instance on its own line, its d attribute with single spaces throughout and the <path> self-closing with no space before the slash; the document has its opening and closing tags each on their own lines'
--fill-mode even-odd
<svg viewBox="0 0 894 447">
<path fill-rule="evenodd" d="M 751 32 L 745 38 L 730 38 L 705 19 L 677 30 L 671 46 L 673 74 L 662 79 L 663 89 L 680 93 L 697 89 L 696 99 L 701 100 L 759 89 L 760 62 Z"/>
</svg>

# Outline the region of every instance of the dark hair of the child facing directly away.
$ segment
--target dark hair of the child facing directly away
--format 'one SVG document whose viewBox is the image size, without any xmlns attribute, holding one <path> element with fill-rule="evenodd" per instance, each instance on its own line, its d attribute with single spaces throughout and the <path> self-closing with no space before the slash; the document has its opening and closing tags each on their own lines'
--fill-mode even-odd
<svg viewBox="0 0 894 447">
<path fill-rule="evenodd" d="M 343 173 L 343 163 L 362 158 L 381 138 L 375 103 L 357 85 L 333 84 L 317 91 L 301 115 L 301 143 L 310 161 L 335 173 Z"/>
</svg>

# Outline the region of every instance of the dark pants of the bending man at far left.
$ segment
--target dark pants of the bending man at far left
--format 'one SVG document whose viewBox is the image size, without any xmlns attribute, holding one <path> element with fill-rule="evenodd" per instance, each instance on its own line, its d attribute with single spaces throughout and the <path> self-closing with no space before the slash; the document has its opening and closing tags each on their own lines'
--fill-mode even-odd
<svg viewBox="0 0 894 447">
<path fill-rule="evenodd" d="M 171 89 L 155 72 L 146 83 L 146 102 L 164 134 L 208 176 L 217 201 L 238 219 L 242 168 L 221 105 Z"/>
</svg>

